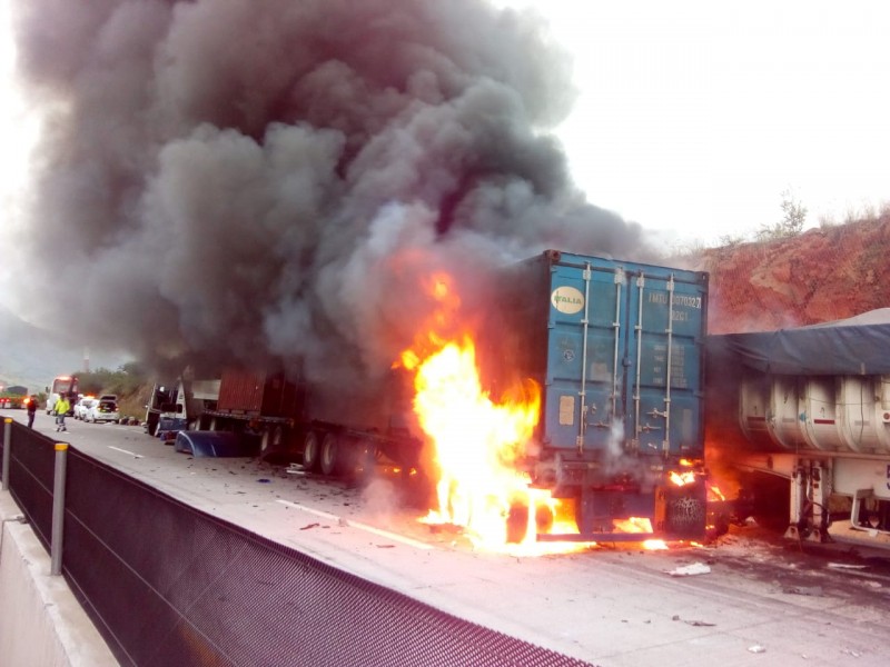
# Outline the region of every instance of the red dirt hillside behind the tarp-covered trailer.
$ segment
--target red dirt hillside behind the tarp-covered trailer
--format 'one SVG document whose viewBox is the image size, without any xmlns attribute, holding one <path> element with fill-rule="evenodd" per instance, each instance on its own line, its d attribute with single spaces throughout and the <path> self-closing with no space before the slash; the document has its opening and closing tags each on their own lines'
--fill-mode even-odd
<svg viewBox="0 0 890 667">
<path fill-rule="evenodd" d="M 890 213 L 795 237 L 703 250 L 710 334 L 767 331 L 890 306 Z"/>
</svg>

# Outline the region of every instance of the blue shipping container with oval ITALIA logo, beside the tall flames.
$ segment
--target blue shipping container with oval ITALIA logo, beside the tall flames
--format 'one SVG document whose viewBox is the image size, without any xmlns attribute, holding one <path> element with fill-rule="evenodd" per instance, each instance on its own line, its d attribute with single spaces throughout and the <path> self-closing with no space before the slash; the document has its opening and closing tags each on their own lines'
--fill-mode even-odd
<svg viewBox="0 0 890 667">
<path fill-rule="evenodd" d="M 547 250 L 511 267 L 498 297 L 483 375 L 495 392 L 542 389 L 533 482 L 576 498 L 582 529 L 670 522 L 665 475 L 703 462 L 708 275 Z"/>
</svg>

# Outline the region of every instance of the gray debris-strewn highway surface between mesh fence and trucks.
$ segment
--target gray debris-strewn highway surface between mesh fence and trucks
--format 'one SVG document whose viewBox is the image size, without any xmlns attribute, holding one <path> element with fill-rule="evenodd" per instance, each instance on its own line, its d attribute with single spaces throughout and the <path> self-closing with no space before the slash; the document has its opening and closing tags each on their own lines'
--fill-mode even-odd
<svg viewBox="0 0 890 667">
<path fill-rule="evenodd" d="M 36 428 L 57 437 L 44 414 Z M 69 418 L 68 428 L 60 440 L 205 511 L 603 667 L 890 660 L 890 567 L 862 549 L 812 549 L 746 526 L 714 545 L 663 551 L 601 545 L 536 558 L 486 554 L 418 522 L 423 511 L 396 477 L 349 487 L 255 459 L 192 458 L 141 427 Z"/>
</svg>

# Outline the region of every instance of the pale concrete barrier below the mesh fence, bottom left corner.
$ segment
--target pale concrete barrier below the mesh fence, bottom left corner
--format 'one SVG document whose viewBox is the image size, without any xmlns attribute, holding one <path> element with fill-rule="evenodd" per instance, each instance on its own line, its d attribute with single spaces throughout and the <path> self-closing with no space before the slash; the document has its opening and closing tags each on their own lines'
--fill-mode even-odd
<svg viewBox="0 0 890 667">
<path fill-rule="evenodd" d="M 0 665 L 117 667 L 119 663 L 8 491 L 0 491 Z"/>
</svg>

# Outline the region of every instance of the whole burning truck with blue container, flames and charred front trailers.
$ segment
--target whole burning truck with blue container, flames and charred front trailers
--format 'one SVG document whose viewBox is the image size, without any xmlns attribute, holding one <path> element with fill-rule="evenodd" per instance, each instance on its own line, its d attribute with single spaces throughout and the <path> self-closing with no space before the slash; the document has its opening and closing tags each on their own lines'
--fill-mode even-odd
<svg viewBox="0 0 890 667">
<path fill-rule="evenodd" d="M 180 385 L 156 422 L 178 410 L 178 427 L 249 432 L 328 475 L 419 470 L 425 521 L 495 544 L 701 536 L 708 275 L 547 250 L 494 282 L 462 318 L 454 277 L 429 276 L 438 308 L 387 391 L 226 374 L 198 414 Z"/>
</svg>

